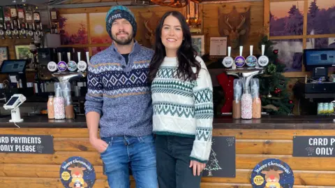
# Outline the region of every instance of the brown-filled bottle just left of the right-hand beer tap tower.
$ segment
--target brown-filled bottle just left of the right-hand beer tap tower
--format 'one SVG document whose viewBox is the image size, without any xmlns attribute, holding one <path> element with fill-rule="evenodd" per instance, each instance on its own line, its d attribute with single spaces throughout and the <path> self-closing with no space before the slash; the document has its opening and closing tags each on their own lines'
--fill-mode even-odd
<svg viewBox="0 0 335 188">
<path fill-rule="evenodd" d="M 240 79 L 234 79 L 234 101 L 232 101 L 232 118 L 241 118 L 241 93 L 242 85 Z"/>
</svg>

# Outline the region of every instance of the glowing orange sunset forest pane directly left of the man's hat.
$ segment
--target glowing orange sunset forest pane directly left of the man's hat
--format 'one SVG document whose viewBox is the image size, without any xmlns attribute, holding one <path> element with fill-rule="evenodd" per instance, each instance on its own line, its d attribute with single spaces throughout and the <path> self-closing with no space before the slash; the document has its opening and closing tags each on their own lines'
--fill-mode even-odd
<svg viewBox="0 0 335 188">
<path fill-rule="evenodd" d="M 92 44 L 112 43 L 106 31 L 106 13 L 90 13 L 89 25 Z"/>
</svg>

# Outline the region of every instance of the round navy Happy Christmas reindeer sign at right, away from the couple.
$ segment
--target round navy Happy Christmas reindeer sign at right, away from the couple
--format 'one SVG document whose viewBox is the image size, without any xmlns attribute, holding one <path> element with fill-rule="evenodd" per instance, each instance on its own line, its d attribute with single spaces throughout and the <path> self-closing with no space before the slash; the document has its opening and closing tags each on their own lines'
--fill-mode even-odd
<svg viewBox="0 0 335 188">
<path fill-rule="evenodd" d="M 279 159 L 265 159 L 253 168 L 253 188 L 292 188 L 295 182 L 293 171 Z"/>
</svg>

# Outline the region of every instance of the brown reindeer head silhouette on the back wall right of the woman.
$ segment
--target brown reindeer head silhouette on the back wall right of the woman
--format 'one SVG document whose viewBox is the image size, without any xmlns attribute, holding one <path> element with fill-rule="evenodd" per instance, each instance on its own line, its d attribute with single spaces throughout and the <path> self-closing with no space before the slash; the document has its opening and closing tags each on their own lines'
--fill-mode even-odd
<svg viewBox="0 0 335 188">
<path fill-rule="evenodd" d="M 230 31 L 228 31 L 228 29 L 224 29 L 223 31 L 225 32 L 225 35 L 229 36 L 230 46 L 232 46 L 232 48 L 237 48 L 239 46 L 239 36 L 246 34 L 246 29 L 241 29 L 244 22 L 246 22 L 246 17 L 241 15 L 241 22 L 236 28 L 234 28 L 229 23 L 229 15 L 225 16 L 225 24 L 228 25 Z"/>
</svg>

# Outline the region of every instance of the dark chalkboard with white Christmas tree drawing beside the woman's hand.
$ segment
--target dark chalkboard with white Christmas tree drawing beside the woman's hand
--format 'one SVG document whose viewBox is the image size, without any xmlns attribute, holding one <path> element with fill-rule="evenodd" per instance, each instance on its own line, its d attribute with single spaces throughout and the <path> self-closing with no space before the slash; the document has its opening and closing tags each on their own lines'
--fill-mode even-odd
<svg viewBox="0 0 335 188">
<path fill-rule="evenodd" d="M 236 175 L 235 137 L 214 136 L 211 141 L 211 154 L 202 176 L 234 178 Z"/>
</svg>

